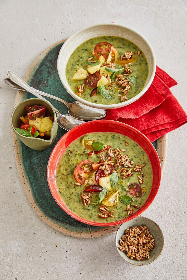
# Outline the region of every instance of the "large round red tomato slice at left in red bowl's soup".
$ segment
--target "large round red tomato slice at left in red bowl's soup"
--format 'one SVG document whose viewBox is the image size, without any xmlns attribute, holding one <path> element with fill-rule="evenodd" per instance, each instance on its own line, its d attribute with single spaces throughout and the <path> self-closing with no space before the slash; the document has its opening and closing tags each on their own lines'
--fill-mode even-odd
<svg viewBox="0 0 187 280">
<path fill-rule="evenodd" d="M 90 175 L 85 171 L 92 168 L 93 161 L 91 160 L 82 160 L 79 164 L 75 167 L 74 170 L 74 177 L 78 183 L 81 185 L 85 182 L 86 178 Z"/>
</svg>

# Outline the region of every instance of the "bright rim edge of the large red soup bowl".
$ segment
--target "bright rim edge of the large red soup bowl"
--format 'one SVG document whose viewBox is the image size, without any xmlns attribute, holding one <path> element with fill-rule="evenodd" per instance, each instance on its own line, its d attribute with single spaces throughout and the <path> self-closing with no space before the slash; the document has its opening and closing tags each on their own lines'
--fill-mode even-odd
<svg viewBox="0 0 187 280">
<path fill-rule="evenodd" d="M 158 183 L 156 185 L 156 189 L 155 189 L 155 192 L 152 194 L 152 197 L 150 198 L 149 200 L 149 197 L 151 195 L 151 192 L 150 192 L 150 195 L 149 197 L 147 198 L 147 200 L 149 200 L 149 202 L 146 204 L 147 200 L 145 201 L 145 203 L 138 209 L 138 211 L 136 211 L 134 214 L 131 214 L 129 216 L 127 216 L 126 218 L 124 219 L 121 219 L 121 220 L 118 220 L 118 221 L 113 221 L 113 222 L 109 222 L 109 223 L 98 223 L 98 222 L 94 222 L 94 221 L 89 221 L 89 220 L 86 220 L 84 218 L 81 218 L 80 216 L 78 216 L 77 214 L 75 214 L 74 212 L 72 212 L 67 206 L 66 204 L 63 202 L 60 194 L 58 193 L 58 190 L 56 188 L 56 182 L 55 182 L 55 179 L 51 179 L 51 175 L 54 176 L 55 178 L 55 175 L 56 175 L 56 168 L 54 170 L 54 160 L 55 160 L 55 154 L 56 152 L 58 151 L 58 148 L 60 146 L 60 143 L 63 142 L 65 139 L 67 139 L 67 137 L 69 136 L 69 134 L 72 134 L 74 131 L 77 130 L 77 128 L 79 130 L 83 129 L 85 126 L 88 126 L 88 125 L 93 125 L 94 123 L 102 123 L 102 125 L 104 126 L 104 124 L 114 124 L 114 125 L 122 125 L 124 128 L 127 128 L 127 129 L 131 129 L 132 131 L 140 134 L 141 137 L 143 137 L 143 139 L 145 140 L 145 142 L 147 142 L 147 144 L 149 144 L 149 147 L 152 149 L 153 153 L 154 153 L 154 156 L 155 156 L 155 160 L 156 160 L 156 163 L 158 165 Z M 99 130 L 97 130 L 99 132 Z M 95 132 L 97 132 L 95 131 Z M 106 132 L 108 132 L 108 130 L 106 130 Z M 83 129 L 83 133 L 82 135 L 84 134 L 87 134 L 88 132 L 84 131 Z M 120 132 L 118 132 L 120 133 Z M 122 133 L 120 133 L 122 134 Z M 125 134 L 124 134 L 125 135 Z M 81 137 L 78 136 L 77 138 Z M 130 137 L 130 136 L 128 136 Z M 76 139 L 77 139 L 76 138 Z M 131 138 L 131 137 L 130 137 Z M 133 138 L 131 138 L 133 139 Z M 74 141 L 75 139 L 73 139 L 72 141 Z M 133 139 L 134 140 L 134 139 Z M 72 143 L 72 141 L 70 143 Z M 134 140 L 135 141 L 135 140 Z M 69 144 L 70 144 L 69 143 Z M 142 146 L 140 144 L 140 146 Z M 67 148 L 67 147 L 66 147 Z M 142 147 L 143 148 L 143 147 Z M 144 150 L 144 148 L 143 148 Z M 145 151 L 145 150 L 144 150 Z M 145 151 L 146 152 L 146 151 Z M 62 153 L 61 153 L 62 155 Z M 61 156 L 60 156 L 61 157 Z M 58 159 L 58 162 L 60 160 L 60 157 Z M 149 156 L 148 156 L 149 157 Z M 150 160 L 150 158 L 149 158 Z M 151 164 L 152 165 L 152 164 Z M 55 165 L 56 167 L 58 166 L 58 163 Z M 153 166 L 152 166 L 152 169 L 153 169 Z M 52 171 L 52 172 L 51 172 Z M 66 134 L 64 134 L 60 139 L 59 141 L 56 143 L 56 145 L 54 146 L 53 148 L 53 151 L 51 152 L 51 155 L 49 157 L 49 161 L 48 161 L 48 165 L 47 165 L 47 181 L 48 181 L 48 185 L 49 185 L 49 189 L 51 191 L 51 194 L 53 196 L 53 198 L 55 199 L 55 201 L 57 202 L 57 204 L 67 213 L 69 214 L 72 218 L 82 222 L 82 223 L 85 223 L 87 225 L 93 225 L 93 226 L 98 226 L 98 227 L 106 227 L 106 226 L 115 226 L 115 225 L 118 225 L 118 224 L 122 224 L 124 222 L 127 222 L 129 220 L 132 220 L 133 218 L 135 218 L 136 216 L 140 215 L 141 213 L 143 213 L 143 211 L 145 211 L 145 209 L 147 209 L 147 207 L 149 207 L 149 205 L 152 203 L 152 201 L 154 200 L 154 198 L 156 197 L 156 194 L 158 192 L 158 189 L 159 189 L 159 186 L 160 186 L 160 181 L 161 181 L 161 164 L 160 164 L 160 160 L 159 160 L 159 157 L 158 157 L 158 153 L 157 151 L 155 150 L 154 146 L 152 145 L 152 143 L 149 141 L 149 139 L 144 135 L 142 134 L 142 132 L 140 132 L 139 130 L 135 129 L 134 127 L 131 127 L 130 125 L 127 125 L 126 123 L 122 123 L 122 122 L 117 122 L 117 121 L 113 121 L 113 120 L 93 120 L 93 121 L 90 121 L 90 122 L 85 122 L 85 123 L 82 123 L 74 128 L 72 128 L 71 130 L 69 130 Z M 146 204 L 146 205 L 145 205 Z"/>
</svg>

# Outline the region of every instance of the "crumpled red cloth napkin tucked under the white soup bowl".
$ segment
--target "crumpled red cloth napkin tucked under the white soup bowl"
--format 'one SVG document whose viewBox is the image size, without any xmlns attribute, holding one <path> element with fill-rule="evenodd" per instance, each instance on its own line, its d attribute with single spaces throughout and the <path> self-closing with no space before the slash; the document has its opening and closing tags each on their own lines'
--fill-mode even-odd
<svg viewBox="0 0 187 280">
<path fill-rule="evenodd" d="M 106 110 L 104 119 L 131 125 L 153 142 L 187 122 L 186 113 L 169 89 L 174 85 L 177 82 L 157 66 L 147 92 L 126 107 Z"/>
</svg>

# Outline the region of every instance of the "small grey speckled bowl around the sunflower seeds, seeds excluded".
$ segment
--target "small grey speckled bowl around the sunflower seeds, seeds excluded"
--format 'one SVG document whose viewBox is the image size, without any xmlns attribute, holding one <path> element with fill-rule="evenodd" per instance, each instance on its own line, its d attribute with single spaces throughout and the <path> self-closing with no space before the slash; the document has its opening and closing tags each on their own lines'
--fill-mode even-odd
<svg viewBox="0 0 187 280">
<path fill-rule="evenodd" d="M 134 227 L 134 226 L 147 226 L 148 230 L 150 230 L 150 234 L 153 236 L 155 246 L 152 251 L 150 251 L 150 259 L 146 260 L 136 260 L 136 259 L 130 259 L 127 257 L 126 253 L 122 252 L 119 249 L 119 239 L 124 235 L 124 232 L 126 228 Z M 128 263 L 133 265 L 147 265 L 152 262 L 154 262 L 162 252 L 162 249 L 164 247 L 164 235 L 162 233 L 162 230 L 159 228 L 159 226 L 152 220 L 138 216 L 134 218 L 133 220 L 127 221 L 126 223 L 123 223 L 120 225 L 120 227 L 117 230 L 116 238 L 115 238 L 116 248 L 120 256 Z"/>
</svg>

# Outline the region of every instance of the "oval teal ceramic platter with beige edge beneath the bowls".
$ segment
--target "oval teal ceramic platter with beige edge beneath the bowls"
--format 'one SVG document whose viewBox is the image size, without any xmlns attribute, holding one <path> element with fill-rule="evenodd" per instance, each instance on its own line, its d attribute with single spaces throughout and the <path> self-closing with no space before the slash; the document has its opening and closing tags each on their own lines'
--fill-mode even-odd
<svg viewBox="0 0 187 280">
<path fill-rule="evenodd" d="M 31 87 L 37 88 L 52 95 L 56 95 L 67 102 L 74 99 L 67 93 L 61 84 L 57 72 L 57 58 L 60 48 L 65 40 L 55 43 L 39 55 L 29 67 L 24 81 Z M 14 107 L 21 101 L 33 98 L 28 92 L 18 91 Z M 46 99 L 48 99 L 46 97 Z M 67 107 L 56 100 L 48 99 L 62 113 L 67 114 Z M 66 130 L 58 127 L 58 133 L 52 146 L 44 151 L 35 151 L 25 146 L 12 131 L 13 146 L 17 169 L 24 191 L 35 213 L 52 228 L 74 237 L 91 238 L 99 237 L 116 231 L 119 227 L 94 227 L 81 223 L 67 213 L 53 199 L 47 184 L 47 163 L 51 151 Z M 167 155 L 167 136 L 159 138 L 154 143 L 160 161 L 162 174 Z M 35 166 L 35 168 L 31 168 Z M 37 217 L 36 217 L 37 218 Z"/>
</svg>

